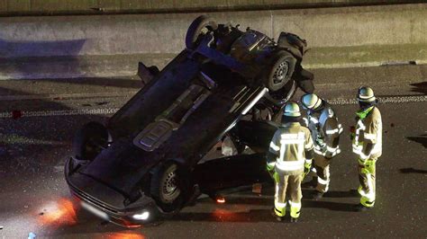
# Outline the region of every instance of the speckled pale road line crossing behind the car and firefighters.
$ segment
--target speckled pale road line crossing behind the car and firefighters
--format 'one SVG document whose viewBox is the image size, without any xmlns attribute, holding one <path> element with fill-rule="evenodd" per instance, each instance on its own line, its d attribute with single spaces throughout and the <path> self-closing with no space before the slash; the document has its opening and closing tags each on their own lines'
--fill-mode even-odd
<svg viewBox="0 0 427 239">
<path fill-rule="evenodd" d="M 427 102 L 427 95 L 413 96 L 390 96 L 377 97 L 380 103 L 408 103 L 408 102 Z M 354 99 L 329 99 L 332 105 L 358 104 Z M 68 116 L 68 115 L 108 115 L 114 114 L 120 108 L 101 108 L 101 109 L 78 109 L 61 111 L 20 111 L 20 116 L 27 117 L 47 117 L 47 116 Z M 0 112 L 0 119 L 14 118 L 13 112 Z"/>
</svg>

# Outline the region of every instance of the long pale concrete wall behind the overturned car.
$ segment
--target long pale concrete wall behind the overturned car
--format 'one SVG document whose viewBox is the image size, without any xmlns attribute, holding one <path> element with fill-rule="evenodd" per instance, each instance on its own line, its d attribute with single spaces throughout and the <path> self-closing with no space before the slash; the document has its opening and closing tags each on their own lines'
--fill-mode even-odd
<svg viewBox="0 0 427 239">
<path fill-rule="evenodd" d="M 0 18 L 0 58 L 3 58 L 3 65 L 0 60 L 0 73 L 2 66 L 4 69 L 7 66 L 5 58 L 84 57 L 87 63 L 90 56 L 126 58 L 128 55 L 136 55 L 145 59 L 144 56 L 150 54 L 152 59 L 152 54 L 159 54 L 159 58 L 165 58 L 166 62 L 171 54 L 184 48 L 187 27 L 199 14 Z M 427 4 L 209 15 L 217 22 L 240 23 L 241 29 L 250 26 L 270 37 L 277 37 L 280 31 L 294 32 L 306 39 L 313 48 L 313 57 L 308 59 L 313 66 L 320 66 L 322 62 L 340 65 L 340 62 L 333 61 L 331 50 L 336 52 L 335 55 L 344 56 L 340 58 L 344 61 L 342 64 L 345 64 L 347 55 L 363 61 L 364 54 L 378 49 L 378 54 L 368 56 L 367 60 L 427 59 L 427 53 L 422 49 L 427 46 Z M 357 49 L 356 55 L 352 54 L 352 49 Z M 402 58 L 402 52 L 407 56 Z M 164 57 L 166 55 L 167 58 Z M 129 74 L 136 72 L 136 66 L 131 67 L 132 72 Z M 8 69 L 13 71 L 11 66 Z M 86 71 L 90 73 L 90 67 Z M 109 74 L 114 75 L 114 70 L 110 71 Z"/>
</svg>

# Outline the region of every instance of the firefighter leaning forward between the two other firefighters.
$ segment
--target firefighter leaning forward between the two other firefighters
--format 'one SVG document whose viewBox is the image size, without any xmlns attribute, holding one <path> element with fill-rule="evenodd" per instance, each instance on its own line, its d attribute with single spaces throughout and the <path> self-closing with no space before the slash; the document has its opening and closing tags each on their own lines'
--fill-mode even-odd
<svg viewBox="0 0 427 239">
<path fill-rule="evenodd" d="M 329 189 L 331 159 L 341 153 L 339 140 L 342 127 L 332 106 L 316 94 L 304 94 L 301 104 L 307 111 L 304 122 L 312 132 L 314 144 L 313 171 L 317 174 L 317 186 L 312 197 L 321 199 Z"/>
</svg>

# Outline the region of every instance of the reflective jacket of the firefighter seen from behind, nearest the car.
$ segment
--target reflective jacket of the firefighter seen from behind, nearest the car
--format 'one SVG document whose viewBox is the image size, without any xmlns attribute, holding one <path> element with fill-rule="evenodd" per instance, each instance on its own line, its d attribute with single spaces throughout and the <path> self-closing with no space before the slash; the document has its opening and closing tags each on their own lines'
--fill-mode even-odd
<svg viewBox="0 0 427 239">
<path fill-rule="evenodd" d="M 278 128 L 271 140 L 268 164 L 285 175 L 304 173 L 304 164 L 313 159 L 313 140 L 310 130 L 298 122 L 286 123 Z"/>
</svg>

